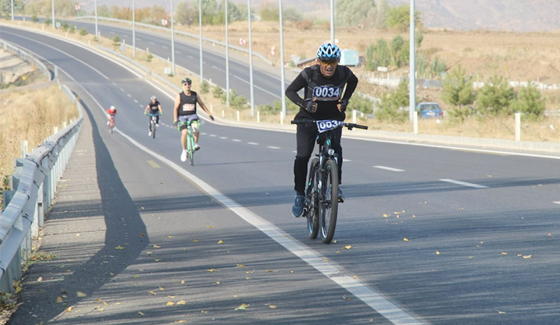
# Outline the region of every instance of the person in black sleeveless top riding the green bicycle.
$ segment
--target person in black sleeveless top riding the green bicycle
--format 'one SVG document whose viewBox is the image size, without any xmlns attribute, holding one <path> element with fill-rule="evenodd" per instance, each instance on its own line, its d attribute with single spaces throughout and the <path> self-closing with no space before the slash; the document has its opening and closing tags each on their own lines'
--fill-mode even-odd
<svg viewBox="0 0 560 325">
<path fill-rule="evenodd" d="M 175 97 L 175 107 L 173 110 L 173 123 L 175 126 L 181 123 L 179 130 L 181 131 L 181 145 L 183 146 L 183 152 L 181 152 L 181 161 L 187 161 L 187 122 L 191 122 L 190 126 L 193 128 L 193 136 L 195 138 L 195 150 L 200 149 L 198 145 L 198 139 L 200 136 L 200 122 L 197 115 L 197 103 L 202 107 L 204 112 L 208 114 L 210 120 L 214 121 L 214 116 L 210 113 L 210 110 L 202 103 L 202 99 L 196 93 L 190 90 L 190 85 L 193 84 L 193 80 L 189 78 L 184 78 L 181 80 L 183 85 L 183 92 L 180 92 Z"/>
</svg>

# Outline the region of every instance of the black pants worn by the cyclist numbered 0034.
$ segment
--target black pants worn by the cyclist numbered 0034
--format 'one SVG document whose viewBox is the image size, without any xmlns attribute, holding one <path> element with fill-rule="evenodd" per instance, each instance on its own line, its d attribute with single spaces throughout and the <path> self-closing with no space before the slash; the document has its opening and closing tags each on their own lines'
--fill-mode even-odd
<svg viewBox="0 0 560 325">
<path fill-rule="evenodd" d="M 295 139 L 297 141 L 297 154 L 293 164 L 293 175 L 295 182 L 295 192 L 302 193 L 305 190 L 307 179 L 307 164 L 315 147 L 317 138 L 317 127 L 314 124 L 297 124 L 297 133 Z M 342 137 L 342 128 L 335 129 L 331 138 L 331 147 L 338 154 L 338 180 L 342 183 L 342 147 L 340 146 L 340 138 Z"/>
</svg>

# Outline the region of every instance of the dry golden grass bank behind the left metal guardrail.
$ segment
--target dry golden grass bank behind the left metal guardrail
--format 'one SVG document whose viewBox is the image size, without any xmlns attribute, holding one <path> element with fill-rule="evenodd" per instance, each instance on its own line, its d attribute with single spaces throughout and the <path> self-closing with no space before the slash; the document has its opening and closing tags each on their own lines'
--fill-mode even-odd
<svg viewBox="0 0 560 325">
<path fill-rule="evenodd" d="M 76 106 L 57 85 L 29 91 L 13 89 L 3 94 L 0 104 L 0 180 L 13 173 L 22 140 L 28 141 L 31 150 L 52 135 L 53 127 L 60 129 L 64 122 L 78 117 Z"/>
</svg>

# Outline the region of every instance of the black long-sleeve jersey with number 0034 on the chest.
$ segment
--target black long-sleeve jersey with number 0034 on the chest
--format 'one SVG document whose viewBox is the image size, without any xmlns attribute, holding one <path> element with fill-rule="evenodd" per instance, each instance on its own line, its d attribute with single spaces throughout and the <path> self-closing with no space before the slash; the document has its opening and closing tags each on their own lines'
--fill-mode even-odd
<svg viewBox="0 0 560 325">
<path fill-rule="evenodd" d="M 308 66 L 297 75 L 293 82 L 286 88 L 286 96 L 300 106 L 300 112 L 295 115 L 295 120 L 344 120 L 344 112 L 339 112 L 337 103 L 339 99 L 350 99 L 356 86 L 358 78 L 347 66 L 337 66 L 335 74 L 325 78 L 321 74 L 318 64 Z M 346 86 L 346 90 L 344 90 Z M 300 89 L 304 90 L 304 99 L 297 94 Z M 342 94 L 344 92 L 344 95 Z M 317 111 L 309 113 L 305 110 L 306 99 L 317 99 Z"/>
</svg>

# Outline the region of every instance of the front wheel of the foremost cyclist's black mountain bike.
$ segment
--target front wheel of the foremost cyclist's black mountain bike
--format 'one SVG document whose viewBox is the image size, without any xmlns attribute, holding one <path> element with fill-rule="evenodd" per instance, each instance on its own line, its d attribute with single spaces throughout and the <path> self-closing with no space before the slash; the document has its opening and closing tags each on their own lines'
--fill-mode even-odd
<svg viewBox="0 0 560 325">
<path fill-rule="evenodd" d="M 319 198 L 321 240 L 329 244 L 335 236 L 338 212 L 338 166 L 334 159 L 325 162 L 321 194 Z"/>
</svg>

